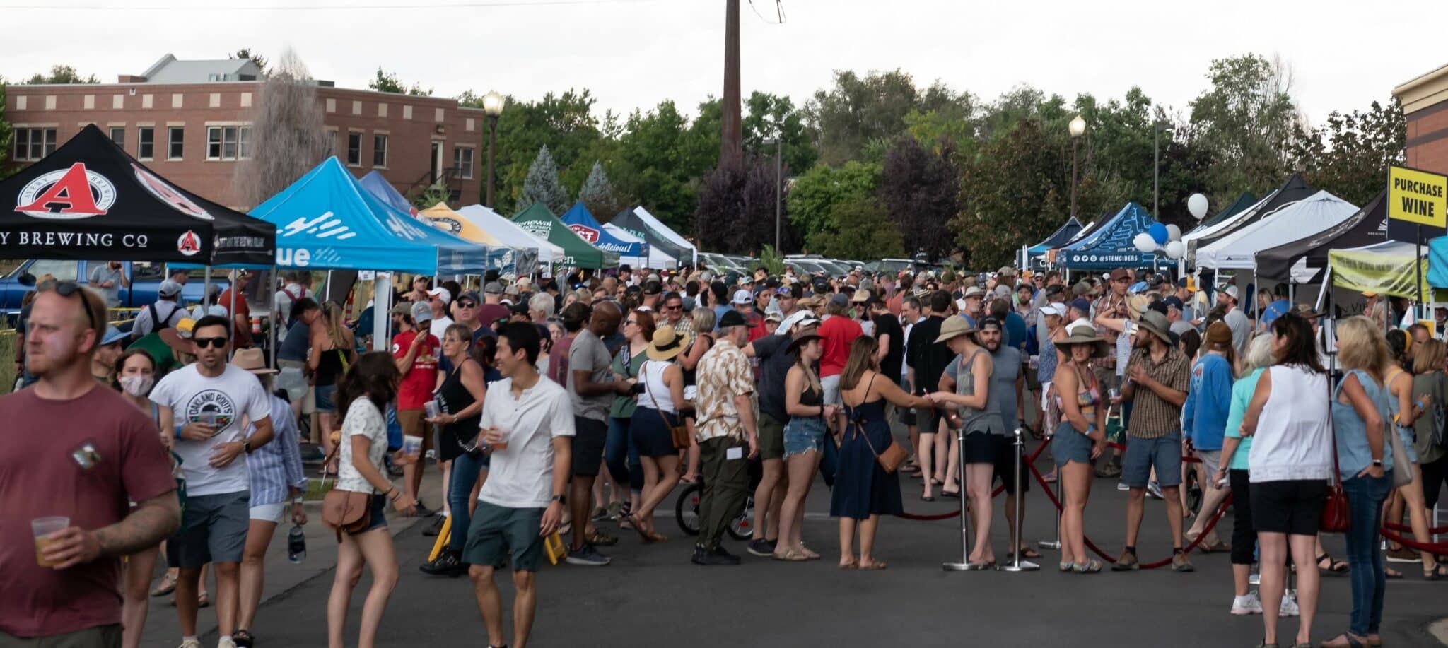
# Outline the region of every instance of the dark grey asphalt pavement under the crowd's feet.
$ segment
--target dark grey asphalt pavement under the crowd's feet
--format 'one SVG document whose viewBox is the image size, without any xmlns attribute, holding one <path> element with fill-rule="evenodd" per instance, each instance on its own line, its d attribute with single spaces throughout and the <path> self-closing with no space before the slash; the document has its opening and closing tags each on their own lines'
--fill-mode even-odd
<svg viewBox="0 0 1448 648">
<path fill-rule="evenodd" d="M 1041 472 L 1048 470 L 1043 457 Z M 921 502 L 919 482 L 902 479 L 906 511 L 943 513 L 959 508 L 953 499 Z M 433 483 L 436 480 L 430 480 Z M 437 502 L 437 487 L 424 487 L 424 500 Z M 1096 479 L 1087 505 L 1087 534 L 1106 551 L 1119 551 L 1125 535 L 1127 493 L 1115 480 Z M 992 538 L 996 555 L 1006 551 L 1003 499 L 998 498 Z M 1034 485 L 1027 498 L 1027 540 L 1054 537 L 1050 503 Z M 668 513 L 665 513 L 668 511 Z M 805 542 L 824 554 L 820 561 L 779 563 L 744 553 L 744 542 L 727 541 L 741 554 L 738 567 L 698 567 L 689 563 L 692 540 L 660 511 L 659 529 L 669 541 L 644 545 L 628 529 L 602 522 L 620 541 L 602 551 L 607 567 L 544 566 L 537 577 L 537 621 L 533 645 L 540 647 L 666 647 L 741 645 L 1069 645 L 1069 647 L 1255 647 L 1260 616 L 1231 616 L 1231 566 L 1226 554 L 1192 554 L 1195 573 L 1167 568 L 1132 573 L 1063 574 L 1057 553 L 1043 550 L 1040 571 L 943 571 L 941 563 L 960 554 L 959 521 L 880 522 L 876 555 L 883 571 L 841 571 L 838 525 L 828 518 L 828 490 L 817 482 L 807 503 Z M 663 516 L 668 515 L 668 516 Z M 433 538 L 421 535 L 417 519 L 390 518 L 397 544 L 401 583 L 387 608 L 378 638 L 384 647 L 487 645 L 487 634 L 466 577 L 423 576 Z M 1190 522 L 1190 521 L 1189 521 Z M 1232 518 L 1219 531 L 1229 538 Z M 332 586 L 334 541 L 319 524 L 308 525 L 308 557 L 285 560 L 285 529 L 274 540 L 266 597 L 253 634 L 261 647 L 326 645 L 326 599 Z M 1342 557 L 1341 537 L 1326 538 Z M 1144 563 L 1170 553 L 1166 506 L 1148 500 L 1138 553 Z M 1439 645 L 1428 626 L 1448 612 L 1448 583 L 1423 581 L 1418 564 L 1394 566 L 1407 576 L 1387 586 L 1383 639 L 1389 647 Z M 352 596 L 349 642 L 371 577 Z M 511 619 L 513 584 L 498 577 L 504 613 Z M 1323 577 L 1318 621 L 1312 634 L 1323 641 L 1342 632 L 1351 609 L 1345 577 Z M 152 599 L 148 647 L 180 642 L 175 612 Z M 511 628 L 511 621 L 507 622 Z M 216 619 L 201 610 L 204 644 L 214 645 Z M 1296 619 L 1283 619 L 1280 636 L 1290 639 Z M 511 632 L 511 631 L 510 631 Z M 511 636 L 511 635 L 510 635 Z"/>
</svg>

